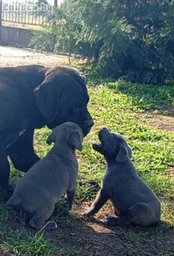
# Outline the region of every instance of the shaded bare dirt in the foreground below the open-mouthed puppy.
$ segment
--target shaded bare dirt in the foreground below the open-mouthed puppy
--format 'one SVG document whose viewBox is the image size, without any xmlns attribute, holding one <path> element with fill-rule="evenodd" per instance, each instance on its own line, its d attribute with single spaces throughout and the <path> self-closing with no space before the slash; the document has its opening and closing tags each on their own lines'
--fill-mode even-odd
<svg viewBox="0 0 174 256">
<path fill-rule="evenodd" d="M 56 232 L 45 235 L 62 249 L 77 250 L 78 255 L 172 255 L 174 246 L 173 230 L 159 234 L 155 228 L 150 232 L 132 227 L 108 229 L 96 220 L 69 228 L 59 226 Z"/>
</svg>

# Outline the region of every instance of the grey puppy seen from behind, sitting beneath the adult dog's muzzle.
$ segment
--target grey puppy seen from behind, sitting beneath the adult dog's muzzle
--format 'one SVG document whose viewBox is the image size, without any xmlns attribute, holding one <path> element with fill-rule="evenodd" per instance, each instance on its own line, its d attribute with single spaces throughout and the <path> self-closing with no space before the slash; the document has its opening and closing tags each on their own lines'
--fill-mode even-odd
<svg viewBox="0 0 174 256">
<path fill-rule="evenodd" d="M 31 216 L 29 225 L 33 228 L 43 228 L 65 192 L 65 207 L 71 209 L 78 175 L 75 150 L 82 150 L 82 141 L 82 130 L 75 123 L 67 122 L 54 128 L 47 139 L 48 144 L 54 142 L 53 148 L 16 184 L 7 205 Z M 47 230 L 56 228 L 54 221 L 45 226 Z"/>
</svg>

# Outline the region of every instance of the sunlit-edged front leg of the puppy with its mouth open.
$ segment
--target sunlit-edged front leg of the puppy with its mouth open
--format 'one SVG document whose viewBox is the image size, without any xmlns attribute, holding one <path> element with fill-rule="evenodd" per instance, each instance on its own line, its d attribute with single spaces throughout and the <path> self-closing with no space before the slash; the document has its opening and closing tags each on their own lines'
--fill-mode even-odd
<svg viewBox="0 0 174 256">
<path fill-rule="evenodd" d="M 107 203 L 108 199 L 109 199 L 108 192 L 104 188 L 101 188 L 99 193 L 97 194 L 97 197 L 94 203 L 91 205 L 90 209 L 82 213 L 82 215 L 88 218 L 91 218 L 97 212 L 99 212 L 100 208 L 103 207 L 105 203 Z"/>
</svg>

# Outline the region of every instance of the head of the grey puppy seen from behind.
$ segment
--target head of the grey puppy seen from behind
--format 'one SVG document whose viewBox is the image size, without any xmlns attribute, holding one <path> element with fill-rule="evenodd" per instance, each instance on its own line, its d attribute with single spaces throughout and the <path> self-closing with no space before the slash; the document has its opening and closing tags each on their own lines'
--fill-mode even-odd
<svg viewBox="0 0 174 256">
<path fill-rule="evenodd" d="M 71 148 L 82 150 L 83 133 L 76 123 L 66 122 L 54 128 L 46 142 L 54 142 L 57 146 L 66 143 Z"/>
</svg>

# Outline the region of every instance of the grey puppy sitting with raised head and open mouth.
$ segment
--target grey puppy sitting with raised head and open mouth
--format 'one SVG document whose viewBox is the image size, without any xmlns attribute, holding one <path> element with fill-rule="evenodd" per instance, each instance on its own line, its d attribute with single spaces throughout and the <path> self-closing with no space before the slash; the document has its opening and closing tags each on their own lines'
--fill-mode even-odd
<svg viewBox="0 0 174 256">
<path fill-rule="evenodd" d="M 160 221 L 160 201 L 138 176 L 130 160 L 131 148 L 125 139 L 105 128 L 100 130 L 99 139 L 101 144 L 93 144 L 93 148 L 104 155 L 108 167 L 94 203 L 83 215 L 94 216 L 110 199 L 120 216 L 105 218 L 105 225 L 156 224 Z"/>
</svg>

